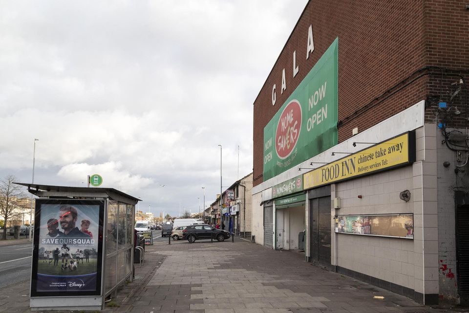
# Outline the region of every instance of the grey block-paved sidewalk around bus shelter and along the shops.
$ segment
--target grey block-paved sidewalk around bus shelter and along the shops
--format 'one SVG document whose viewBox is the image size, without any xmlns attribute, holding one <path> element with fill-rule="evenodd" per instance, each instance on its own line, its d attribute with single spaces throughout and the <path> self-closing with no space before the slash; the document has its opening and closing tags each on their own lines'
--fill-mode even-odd
<svg viewBox="0 0 469 313">
<path fill-rule="evenodd" d="M 235 243 L 187 241 L 146 247 L 145 265 L 113 299 L 120 313 L 441 313 L 409 298 L 236 237 Z M 29 281 L 0 293 L 0 312 L 31 312 Z M 384 296 L 384 299 L 374 299 Z M 57 312 L 57 311 L 55 311 Z M 63 311 L 65 312 L 65 311 Z"/>
</svg>

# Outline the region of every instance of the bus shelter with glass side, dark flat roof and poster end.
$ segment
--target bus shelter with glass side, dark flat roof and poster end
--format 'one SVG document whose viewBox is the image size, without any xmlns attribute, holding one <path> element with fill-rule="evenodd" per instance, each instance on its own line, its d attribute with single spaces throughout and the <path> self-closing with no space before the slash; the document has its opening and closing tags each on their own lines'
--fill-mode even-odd
<svg viewBox="0 0 469 313">
<path fill-rule="evenodd" d="M 101 310 L 132 280 L 135 204 L 113 188 L 18 183 L 35 206 L 31 311 Z"/>
</svg>

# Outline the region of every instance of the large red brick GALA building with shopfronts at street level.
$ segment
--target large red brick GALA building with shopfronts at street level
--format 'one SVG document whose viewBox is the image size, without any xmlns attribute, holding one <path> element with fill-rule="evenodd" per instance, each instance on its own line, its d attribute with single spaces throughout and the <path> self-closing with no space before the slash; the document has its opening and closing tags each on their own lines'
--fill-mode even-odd
<svg viewBox="0 0 469 313">
<path fill-rule="evenodd" d="M 469 302 L 468 29 L 461 1 L 308 2 L 254 102 L 257 243 Z"/>
</svg>

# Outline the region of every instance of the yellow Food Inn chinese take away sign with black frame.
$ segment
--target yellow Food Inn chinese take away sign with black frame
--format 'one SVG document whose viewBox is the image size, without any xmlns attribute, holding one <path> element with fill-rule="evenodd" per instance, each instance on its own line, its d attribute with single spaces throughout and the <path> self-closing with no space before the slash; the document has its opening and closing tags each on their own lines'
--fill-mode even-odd
<svg viewBox="0 0 469 313">
<path fill-rule="evenodd" d="M 415 132 L 407 132 L 303 174 L 303 188 L 390 170 L 414 161 Z"/>
</svg>

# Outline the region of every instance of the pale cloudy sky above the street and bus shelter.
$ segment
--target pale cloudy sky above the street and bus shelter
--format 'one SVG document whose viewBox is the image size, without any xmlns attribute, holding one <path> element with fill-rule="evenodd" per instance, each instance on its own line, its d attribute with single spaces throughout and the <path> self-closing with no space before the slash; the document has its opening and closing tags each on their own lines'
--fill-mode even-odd
<svg viewBox="0 0 469 313">
<path fill-rule="evenodd" d="M 32 181 L 37 138 L 35 183 L 208 207 L 220 155 L 223 191 L 253 171 L 253 103 L 306 2 L 0 1 L 0 179 Z"/>
</svg>

